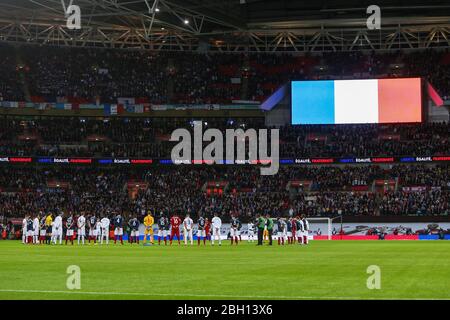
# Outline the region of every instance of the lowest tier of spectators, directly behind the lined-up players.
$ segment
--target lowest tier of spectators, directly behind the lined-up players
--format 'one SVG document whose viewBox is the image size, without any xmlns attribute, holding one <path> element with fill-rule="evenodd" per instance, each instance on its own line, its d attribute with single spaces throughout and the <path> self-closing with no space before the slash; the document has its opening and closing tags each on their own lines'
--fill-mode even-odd
<svg viewBox="0 0 450 320">
<path fill-rule="evenodd" d="M 416 178 L 431 171 L 439 175 Z M 290 186 L 296 179 L 312 184 L 297 189 Z M 327 179 L 334 182 L 324 183 Z M 376 179 L 397 179 L 398 186 L 377 190 L 373 186 Z M 365 183 L 367 188 L 352 190 L 355 181 Z M 211 191 L 208 189 L 211 182 L 225 184 L 220 191 Z M 408 186 L 420 188 L 408 190 L 405 188 Z M 248 166 L 124 169 L 5 165 L 0 170 L 0 191 L 0 216 L 7 217 L 39 211 L 97 214 L 119 211 L 142 217 L 146 210 L 193 216 L 218 212 L 224 217 L 238 214 L 244 218 L 257 213 L 275 217 L 297 213 L 308 216 L 450 213 L 448 165 L 284 166 L 276 176 L 260 176 L 257 168 Z"/>
</svg>

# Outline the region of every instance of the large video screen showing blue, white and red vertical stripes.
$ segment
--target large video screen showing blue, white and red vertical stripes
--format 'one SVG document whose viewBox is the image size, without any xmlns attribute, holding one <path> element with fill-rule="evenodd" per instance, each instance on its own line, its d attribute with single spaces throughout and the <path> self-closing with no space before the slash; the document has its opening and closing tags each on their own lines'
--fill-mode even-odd
<svg viewBox="0 0 450 320">
<path fill-rule="evenodd" d="M 420 78 L 292 82 L 292 124 L 421 121 Z"/>
</svg>

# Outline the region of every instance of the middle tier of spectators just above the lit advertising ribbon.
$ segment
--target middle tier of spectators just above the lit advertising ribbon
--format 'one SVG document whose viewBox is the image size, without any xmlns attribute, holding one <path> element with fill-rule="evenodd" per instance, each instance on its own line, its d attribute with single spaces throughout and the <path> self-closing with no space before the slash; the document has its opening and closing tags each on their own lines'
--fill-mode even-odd
<svg viewBox="0 0 450 320">
<path fill-rule="evenodd" d="M 263 119 L 217 118 L 204 123 L 204 130 L 264 128 Z M 3 156 L 170 158 L 173 130 L 192 130 L 192 120 L 183 119 L 3 117 L 0 125 Z M 449 132 L 448 123 L 285 126 L 280 128 L 280 157 L 449 155 Z"/>
</svg>

